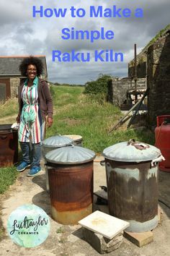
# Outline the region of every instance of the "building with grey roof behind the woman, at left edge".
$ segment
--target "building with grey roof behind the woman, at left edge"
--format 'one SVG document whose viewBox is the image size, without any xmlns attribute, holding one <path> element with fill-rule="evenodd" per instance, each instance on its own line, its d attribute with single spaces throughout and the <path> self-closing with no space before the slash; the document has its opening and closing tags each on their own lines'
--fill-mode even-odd
<svg viewBox="0 0 170 256">
<path fill-rule="evenodd" d="M 17 97 L 18 86 L 22 78 L 19 64 L 27 56 L 0 56 L 0 101 Z M 36 56 L 42 60 L 42 78 L 48 80 L 45 56 Z"/>
</svg>

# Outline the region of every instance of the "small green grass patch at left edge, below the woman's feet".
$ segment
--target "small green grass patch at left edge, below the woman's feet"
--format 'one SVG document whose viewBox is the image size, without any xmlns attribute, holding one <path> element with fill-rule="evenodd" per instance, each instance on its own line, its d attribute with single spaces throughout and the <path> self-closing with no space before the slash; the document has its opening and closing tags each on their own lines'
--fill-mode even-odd
<svg viewBox="0 0 170 256">
<path fill-rule="evenodd" d="M 17 179 L 15 167 L 0 168 L 0 194 L 3 194 Z"/>
</svg>

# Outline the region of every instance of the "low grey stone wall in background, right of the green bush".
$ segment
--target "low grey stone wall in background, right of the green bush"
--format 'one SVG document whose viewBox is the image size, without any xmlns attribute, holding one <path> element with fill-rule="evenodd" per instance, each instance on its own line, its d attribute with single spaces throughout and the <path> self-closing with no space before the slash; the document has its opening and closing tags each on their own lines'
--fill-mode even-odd
<svg viewBox="0 0 170 256">
<path fill-rule="evenodd" d="M 146 88 L 146 79 L 139 78 L 137 83 L 137 88 Z M 128 90 L 135 89 L 135 82 L 129 77 L 125 77 L 119 80 L 113 79 L 109 83 L 109 101 L 116 106 L 120 106 L 126 100 L 126 93 Z"/>
</svg>

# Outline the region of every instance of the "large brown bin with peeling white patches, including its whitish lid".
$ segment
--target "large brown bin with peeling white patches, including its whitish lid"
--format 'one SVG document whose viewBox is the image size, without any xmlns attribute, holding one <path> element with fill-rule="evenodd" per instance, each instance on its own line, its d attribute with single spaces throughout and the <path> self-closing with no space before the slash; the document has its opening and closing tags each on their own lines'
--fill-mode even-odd
<svg viewBox="0 0 170 256">
<path fill-rule="evenodd" d="M 158 224 L 158 162 L 161 151 L 143 142 L 120 142 L 103 151 L 109 213 L 128 221 L 127 231 L 144 232 Z"/>
</svg>

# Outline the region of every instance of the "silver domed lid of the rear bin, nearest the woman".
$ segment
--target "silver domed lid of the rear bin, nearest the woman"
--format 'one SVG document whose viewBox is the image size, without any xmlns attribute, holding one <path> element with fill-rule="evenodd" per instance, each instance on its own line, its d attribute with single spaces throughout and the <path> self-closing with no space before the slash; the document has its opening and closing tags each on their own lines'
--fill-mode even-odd
<svg viewBox="0 0 170 256">
<path fill-rule="evenodd" d="M 72 143 L 73 143 L 73 140 L 71 140 L 71 138 L 61 136 L 61 135 L 56 135 L 43 140 L 42 146 L 48 147 L 48 148 L 60 148 L 63 146 L 71 145 Z"/>
</svg>

